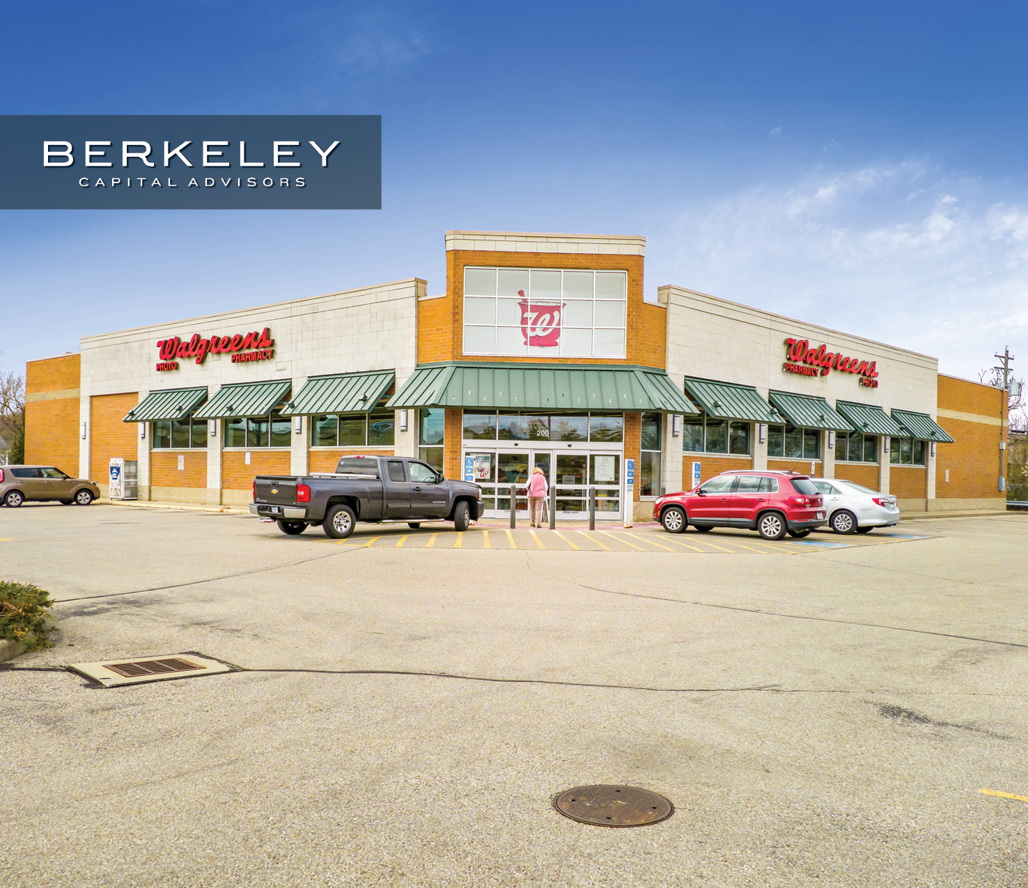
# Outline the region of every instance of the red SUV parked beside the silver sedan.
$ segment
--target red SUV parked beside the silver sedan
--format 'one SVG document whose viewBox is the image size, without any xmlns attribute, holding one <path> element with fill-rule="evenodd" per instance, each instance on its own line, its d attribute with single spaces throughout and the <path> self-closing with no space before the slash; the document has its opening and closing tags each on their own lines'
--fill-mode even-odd
<svg viewBox="0 0 1028 888">
<path fill-rule="evenodd" d="M 795 472 L 723 472 L 694 490 L 658 496 L 653 517 L 669 533 L 744 527 L 765 540 L 785 532 L 806 536 L 823 527 L 824 501 L 806 475 Z"/>
</svg>

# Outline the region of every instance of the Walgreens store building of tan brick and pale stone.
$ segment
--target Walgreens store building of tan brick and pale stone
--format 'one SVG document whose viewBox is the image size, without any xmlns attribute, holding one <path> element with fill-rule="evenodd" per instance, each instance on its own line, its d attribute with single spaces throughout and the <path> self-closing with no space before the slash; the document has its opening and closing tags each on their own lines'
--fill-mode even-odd
<svg viewBox="0 0 1028 888">
<path fill-rule="evenodd" d="M 540 467 L 558 517 L 730 469 L 1002 509 L 1004 393 L 934 358 L 681 287 L 644 290 L 642 237 L 450 231 L 446 291 L 410 279 L 86 336 L 30 362 L 26 460 L 137 460 L 141 499 L 238 506 L 257 474 L 418 456 L 486 514 Z M 635 467 L 631 501 L 626 460 Z M 519 504 L 522 508 L 524 504 Z"/>
</svg>

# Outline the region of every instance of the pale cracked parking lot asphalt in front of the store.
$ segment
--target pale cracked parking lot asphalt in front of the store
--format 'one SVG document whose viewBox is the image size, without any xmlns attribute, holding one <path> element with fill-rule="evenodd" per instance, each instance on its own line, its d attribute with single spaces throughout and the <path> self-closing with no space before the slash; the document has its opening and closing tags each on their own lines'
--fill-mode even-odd
<svg viewBox="0 0 1028 888">
<path fill-rule="evenodd" d="M 0 510 L 61 627 L 0 667 L 5 885 L 1028 882 L 1023 516 L 630 532 Z M 238 671 L 65 668 L 184 652 Z M 553 809 L 593 783 L 675 812 Z"/>
</svg>

